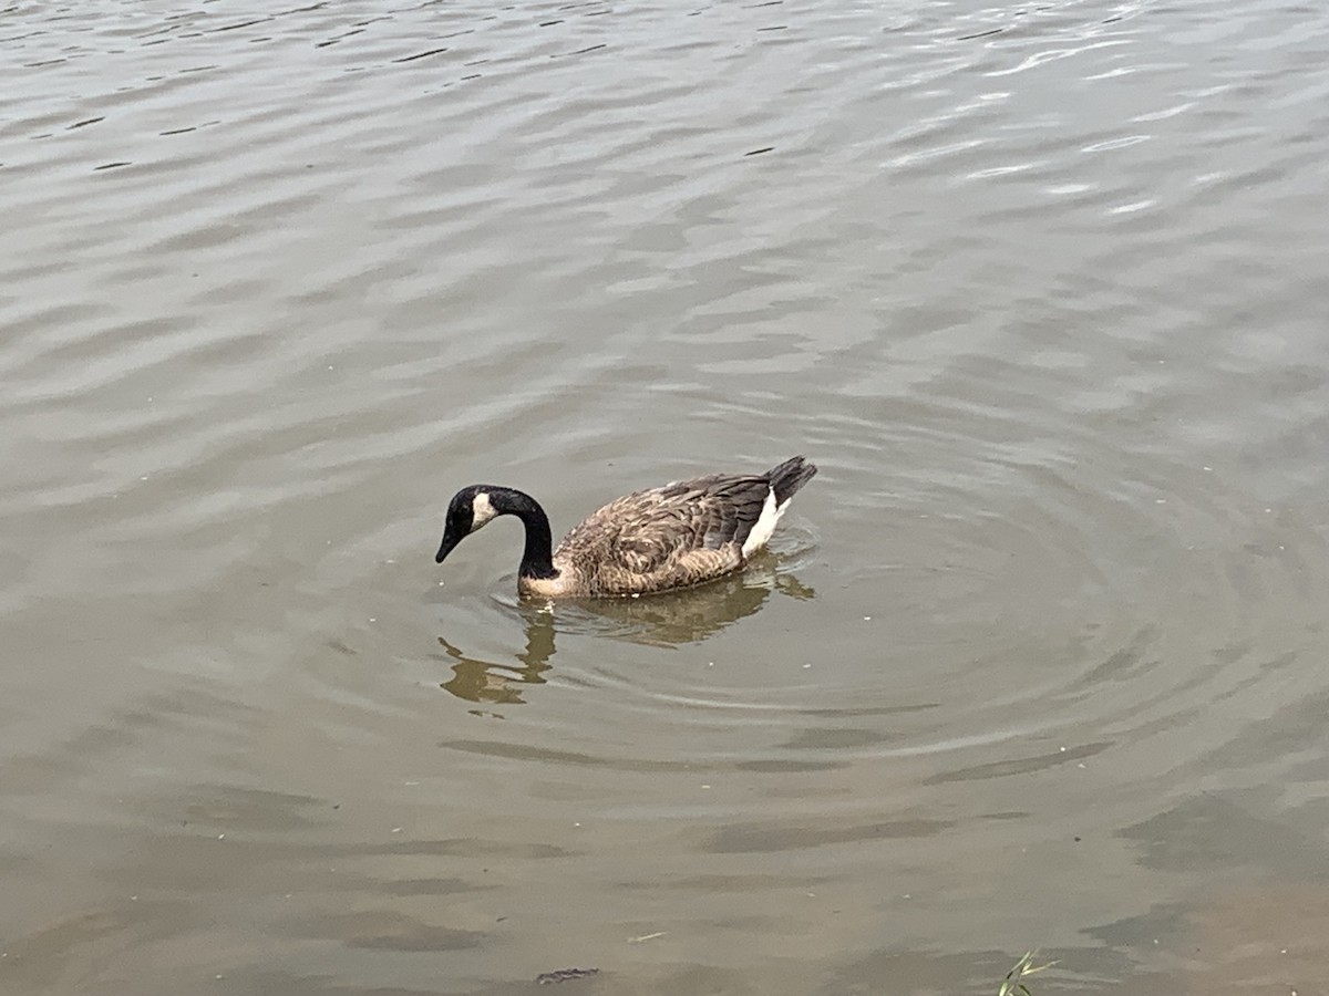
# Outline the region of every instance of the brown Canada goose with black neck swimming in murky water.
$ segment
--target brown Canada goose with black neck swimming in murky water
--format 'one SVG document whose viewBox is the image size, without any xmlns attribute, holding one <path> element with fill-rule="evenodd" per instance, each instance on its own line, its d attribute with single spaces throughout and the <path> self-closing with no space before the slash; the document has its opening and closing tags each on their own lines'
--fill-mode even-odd
<svg viewBox="0 0 1329 996">
<path fill-rule="evenodd" d="M 791 457 L 764 474 L 708 474 L 623 495 L 553 550 L 549 517 L 529 494 L 470 485 L 448 503 L 437 563 L 498 515 L 526 527 L 517 588 L 544 598 L 645 595 L 740 570 L 766 546 L 789 498 L 817 473 Z"/>
</svg>

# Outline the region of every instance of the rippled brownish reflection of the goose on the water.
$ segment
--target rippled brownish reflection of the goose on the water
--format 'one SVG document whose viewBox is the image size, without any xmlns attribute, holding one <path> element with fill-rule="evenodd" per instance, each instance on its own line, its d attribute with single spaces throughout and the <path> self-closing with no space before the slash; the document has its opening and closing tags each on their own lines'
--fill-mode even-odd
<svg viewBox="0 0 1329 996">
<path fill-rule="evenodd" d="M 651 595 L 641 599 L 595 599 L 561 602 L 521 602 L 516 612 L 525 622 L 526 649 L 513 655 L 513 663 L 468 656 L 439 637 L 439 645 L 452 659 L 452 679 L 441 688 L 468 703 L 520 705 L 529 688 L 545 684 L 553 669 L 554 636 L 590 635 L 649 647 L 680 647 L 699 643 L 755 614 L 771 592 L 795 599 L 811 599 L 816 592 L 792 574 L 779 574 L 775 562 L 752 564 L 744 574 L 724 578 L 699 588 Z"/>
</svg>

